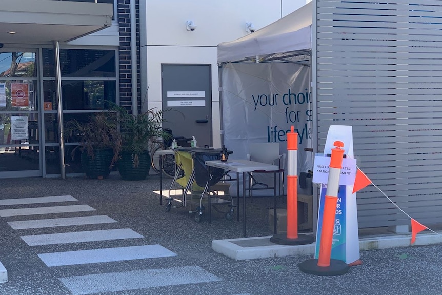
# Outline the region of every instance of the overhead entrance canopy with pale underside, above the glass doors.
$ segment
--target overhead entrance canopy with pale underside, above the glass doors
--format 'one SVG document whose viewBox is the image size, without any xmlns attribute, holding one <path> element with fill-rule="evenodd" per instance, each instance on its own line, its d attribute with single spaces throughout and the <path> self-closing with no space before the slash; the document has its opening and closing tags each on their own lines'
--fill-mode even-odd
<svg viewBox="0 0 442 295">
<path fill-rule="evenodd" d="M 55 0 L 2 1 L 0 43 L 67 42 L 110 26 L 112 15 L 112 4 L 107 3 Z"/>
</svg>

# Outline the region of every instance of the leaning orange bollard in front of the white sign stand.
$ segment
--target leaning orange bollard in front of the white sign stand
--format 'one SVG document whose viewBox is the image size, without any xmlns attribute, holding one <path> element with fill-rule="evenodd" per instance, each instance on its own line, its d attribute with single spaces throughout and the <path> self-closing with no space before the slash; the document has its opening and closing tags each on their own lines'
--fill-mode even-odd
<svg viewBox="0 0 442 295">
<path fill-rule="evenodd" d="M 336 276 L 348 271 L 349 266 L 342 260 L 331 259 L 333 244 L 333 227 L 336 215 L 337 194 L 339 190 L 339 176 L 342 169 L 344 157 L 344 144 L 340 141 L 334 142 L 330 159 L 329 176 L 327 180 L 327 191 L 324 201 L 324 217 L 321 229 L 321 240 L 319 244 L 319 258 L 309 259 L 299 263 L 301 271 L 321 276 Z"/>
</svg>

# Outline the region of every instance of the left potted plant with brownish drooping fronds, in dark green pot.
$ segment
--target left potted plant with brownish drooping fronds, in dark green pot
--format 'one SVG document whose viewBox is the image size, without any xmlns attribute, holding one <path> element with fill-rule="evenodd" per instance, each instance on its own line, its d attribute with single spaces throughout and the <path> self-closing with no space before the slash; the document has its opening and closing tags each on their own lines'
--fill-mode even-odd
<svg viewBox="0 0 442 295">
<path fill-rule="evenodd" d="M 121 149 L 122 139 L 115 112 L 89 115 L 85 122 L 71 119 L 65 127 L 67 139 L 79 142 L 72 150 L 81 149 L 81 163 L 86 176 L 103 179 L 109 176 Z"/>
</svg>

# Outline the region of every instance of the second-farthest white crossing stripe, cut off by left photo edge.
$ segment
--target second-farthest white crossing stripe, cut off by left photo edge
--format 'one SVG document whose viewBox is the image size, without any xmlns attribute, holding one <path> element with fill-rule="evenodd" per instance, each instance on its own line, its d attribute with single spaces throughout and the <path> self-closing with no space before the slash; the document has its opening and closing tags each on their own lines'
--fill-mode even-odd
<svg viewBox="0 0 442 295">
<path fill-rule="evenodd" d="M 95 209 L 88 206 L 88 205 L 52 206 L 52 207 L 22 208 L 22 209 L 2 209 L 2 210 L 0 210 L 0 217 L 21 216 L 21 215 L 39 215 L 39 214 L 52 214 L 52 213 L 68 213 L 68 212 L 83 212 L 83 211 L 95 211 Z"/>
</svg>

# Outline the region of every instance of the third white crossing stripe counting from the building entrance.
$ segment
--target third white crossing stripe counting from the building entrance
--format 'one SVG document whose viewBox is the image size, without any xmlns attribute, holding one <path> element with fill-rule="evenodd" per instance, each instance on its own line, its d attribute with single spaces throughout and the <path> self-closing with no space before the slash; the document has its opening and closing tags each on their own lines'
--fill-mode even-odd
<svg viewBox="0 0 442 295">
<path fill-rule="evenodd" d="M 12 229 L 27 229 L 27 228 L 44 228 L 44 227 L 70 226 L 70 225 L 100 224 L 100 223 L 112 223 L 112 222 L 117 222 L 117 221 L 113 220 L 107 215 L 97 215 L 97 216 L 9 221 L 8 224 L 12 227 Z"/>
</svg>

